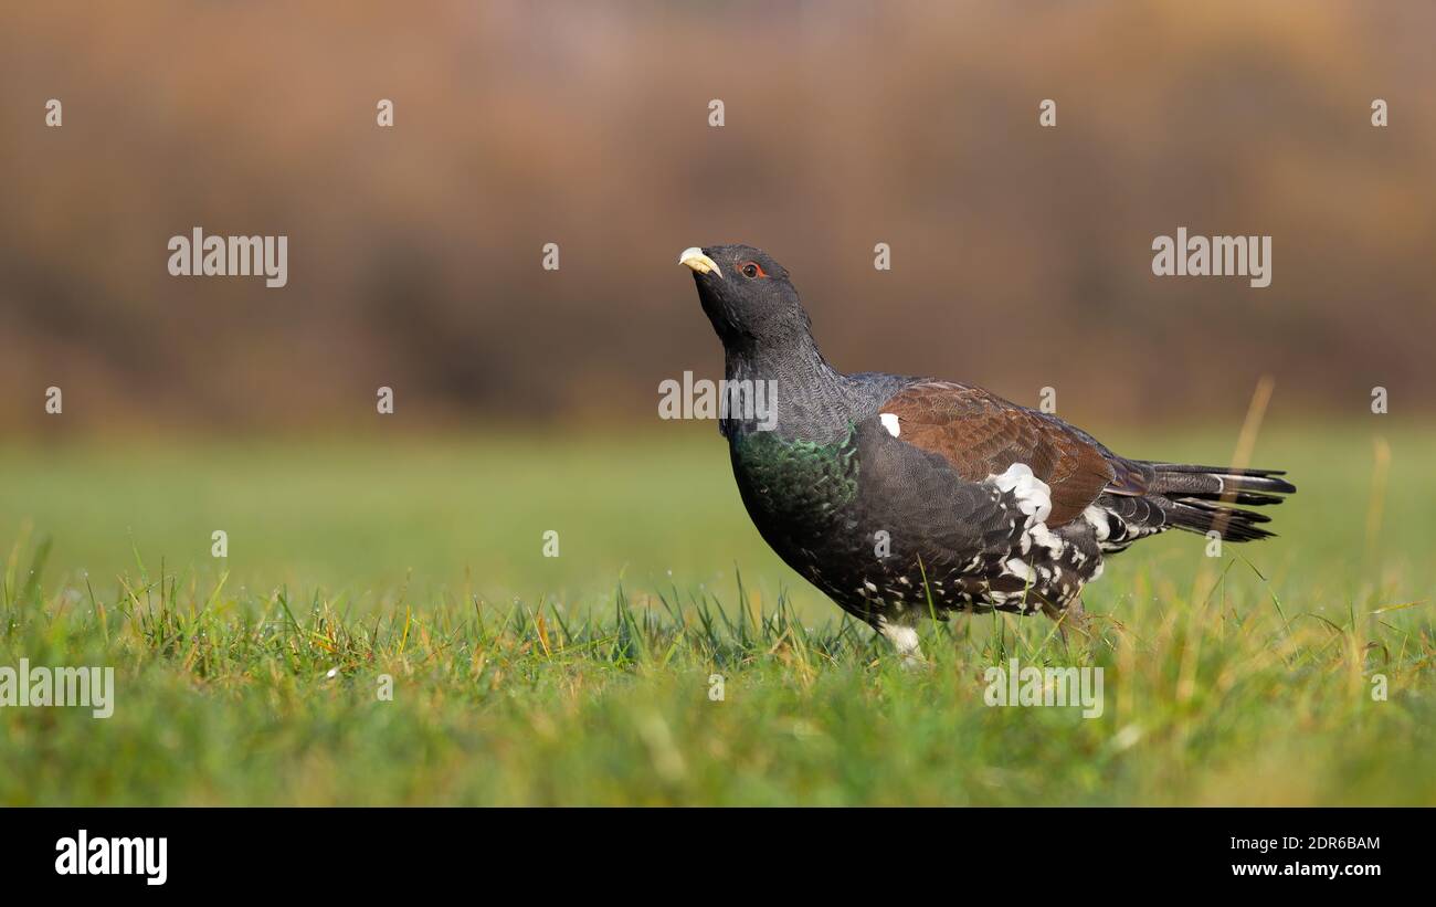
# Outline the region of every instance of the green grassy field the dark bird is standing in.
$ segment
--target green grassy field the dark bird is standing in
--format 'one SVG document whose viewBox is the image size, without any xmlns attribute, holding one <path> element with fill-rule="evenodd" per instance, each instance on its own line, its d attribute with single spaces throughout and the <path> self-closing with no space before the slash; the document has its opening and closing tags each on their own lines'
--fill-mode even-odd
<svg viewBox="0 0 1436 907">
<path fill-rule="evenodd" d="M 1231 448 L 1159 441 L 1113 445 Z M 0 804 L 1436 804 L 1436 435 L 1389 442 L 1373 514 L 1369 431 L 1268 431 L 1281 538 L 1146 541 L 1096 640 L 956 617 L 918 672 L 765 550 L 711 426 L 3 446 L 0 664 L 118 690 L 0 709 Z M 1103 716 L 987 708 L 1011 657 L 1100 666 Z"/>
</svg>

